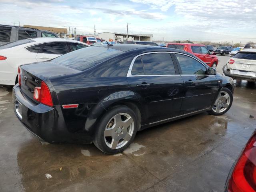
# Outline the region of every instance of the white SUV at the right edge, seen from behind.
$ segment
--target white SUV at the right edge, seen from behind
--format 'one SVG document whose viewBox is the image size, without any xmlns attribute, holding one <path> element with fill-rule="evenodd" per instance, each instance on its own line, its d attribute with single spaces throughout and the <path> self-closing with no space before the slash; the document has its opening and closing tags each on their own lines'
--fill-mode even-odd
<svg viewBox="0 0 256 192">
<path fill-rule="evenodd" d="M 244 49 L 229 59 L 222 68 L 226 76 L 256 81 L 256 49 Z"/>
</svg>

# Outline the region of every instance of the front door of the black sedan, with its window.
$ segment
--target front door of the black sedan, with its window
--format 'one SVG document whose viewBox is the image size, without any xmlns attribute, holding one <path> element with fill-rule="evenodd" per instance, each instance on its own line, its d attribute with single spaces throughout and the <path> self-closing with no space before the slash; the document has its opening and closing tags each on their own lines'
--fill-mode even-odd
<svg viewBox="0 0 256 192">
<path fill-rule="evenodd" d="M 207 67 L 192 56 L 180 53 L 175 56 L 184 81 L 181 114 L 210 108 L 218 88 L 216 76 L 206 74 Z"/>
</svg>

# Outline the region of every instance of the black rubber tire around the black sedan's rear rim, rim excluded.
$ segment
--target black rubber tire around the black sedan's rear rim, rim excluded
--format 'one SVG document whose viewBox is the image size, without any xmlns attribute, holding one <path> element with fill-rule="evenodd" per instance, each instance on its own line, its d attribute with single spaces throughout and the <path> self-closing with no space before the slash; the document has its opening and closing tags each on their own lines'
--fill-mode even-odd
<svg viewBox="0 0 256 192">
<path fill-rule="evenodd" d="M 111 149 L 105 143 L 104 131 L 108 122 L 111 120 L 111 118 L 120 113 L 126 113 L 132 117 L 134 122 L 134 131 L 132 133 L 132 137 L 130 138 L 130 140 L 122 148 Z M 102 116 L 102 118 L 100 119 L 98 128 L 94 135 L 93 143 L 99 150 L 101 150 L 106 154 L 117 154 L 125 150 L 132 143 L 132 141 L 135 138 L 137 130 L 138 130 L 138 120 L 134 111 L 128 108 L 127 106 L 116 106 L 110 109 L 109 111 L 107 111 L 106 114 L 104 114 L 104 116 Z"/>
</svg>

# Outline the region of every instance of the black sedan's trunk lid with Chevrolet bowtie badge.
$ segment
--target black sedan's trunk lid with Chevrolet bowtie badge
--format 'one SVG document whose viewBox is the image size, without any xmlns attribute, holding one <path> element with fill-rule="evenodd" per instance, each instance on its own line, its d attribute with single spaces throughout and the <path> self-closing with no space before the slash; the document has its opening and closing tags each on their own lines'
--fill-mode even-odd
<svg viewBox="0 0 256 192">
<path fill-rule="evenodd" d="M 50 77 L 74 74 L 80 71 L 58 65 L 54 62 L 38 62 L 20 66 L 21 89 L 31 99 L 33 99 L 34 88 L 41 87 L 44 81 L 50 91 L 54 88 L 50 84 Z M 34 99 L 33 99 L 34 100 Z"/>
</svg>

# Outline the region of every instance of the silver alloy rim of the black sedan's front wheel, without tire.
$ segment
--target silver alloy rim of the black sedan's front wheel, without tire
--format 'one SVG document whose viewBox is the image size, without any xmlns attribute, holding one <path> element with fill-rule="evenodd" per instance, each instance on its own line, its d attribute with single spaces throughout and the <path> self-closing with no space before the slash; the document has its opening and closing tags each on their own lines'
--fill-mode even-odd
<svg viewBox="0 0 256 192">
<path fill-rule="evenodd" d="M 229 107 L 230 100 L 229 94 L 225 91 L 221 91 L 212 107 L 212 110 L 216 113 L 224 112 Z"/>
</svg>

